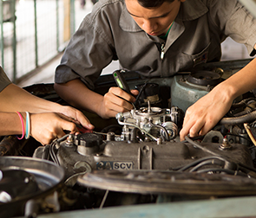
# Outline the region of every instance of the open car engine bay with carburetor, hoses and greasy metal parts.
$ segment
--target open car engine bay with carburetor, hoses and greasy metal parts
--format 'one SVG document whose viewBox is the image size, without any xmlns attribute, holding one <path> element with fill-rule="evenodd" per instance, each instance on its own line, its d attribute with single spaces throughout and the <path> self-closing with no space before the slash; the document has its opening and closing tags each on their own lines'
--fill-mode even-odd
<svg viewBox="0 0 256 218">
<path fill-rule="evenodd" d="M 122 71 L 128 86 L 140 92 L 130 112 L 107 120 L 84 112 L 94 131 L 67 132 L 45 146 L 33 138 L 1 138 L 0 211 L 6 208 L 1 217 L 255 196 L 254 90 L 237 98 L 205 136 L 179 138 L 187 107 L 248 61 L 207 63 L 172 78 L 143 79 Z M 113 86 L 113 77 L 104 75 L 95 92 Z M 24 89 L 67 104 L 52 84 Z"/>
</svg>

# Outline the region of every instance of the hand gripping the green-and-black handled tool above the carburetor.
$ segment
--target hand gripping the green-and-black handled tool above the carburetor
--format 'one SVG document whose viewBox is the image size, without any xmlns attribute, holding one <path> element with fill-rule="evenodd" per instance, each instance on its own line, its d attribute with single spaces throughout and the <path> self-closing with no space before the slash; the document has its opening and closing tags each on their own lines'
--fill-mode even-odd
<svg viewBox="0 0 256 218">
<path fill-rule="evenodd" d="M 137 95 L 138 90 L 131 90 Z M 100 116 L 103 119 L 113 118 L 118 112 L 128 112 L 134 107 L 129 102 L 135 102 L 135 97 L 123 91 L 120 87 L 110 87 L 108 93 L 104 95 Z"/>
</svg>

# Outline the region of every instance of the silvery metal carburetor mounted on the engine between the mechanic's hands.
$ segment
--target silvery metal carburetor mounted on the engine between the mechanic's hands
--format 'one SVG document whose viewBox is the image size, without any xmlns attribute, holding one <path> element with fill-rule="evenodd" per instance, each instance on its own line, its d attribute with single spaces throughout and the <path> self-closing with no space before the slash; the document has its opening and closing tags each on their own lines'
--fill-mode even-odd
<svg viewBox="0 0 256 218">
<path fill-rule="evenodd" d="M 120 125 L 123 125 L 121 141 L 144 141 L 146 138 L 158 141 L 158 138 L 164 141 L 170 141 L 177 137 L 179 109 L 161 109 L 160 107 L 151 107 L 148 101 L 148 107 L 141 107 L 139 110 L 130 112 L 121 112 L 116 114 L 116 119 Z M 137 133 L 141 131 L 141 135 Z"/>
</svg>

